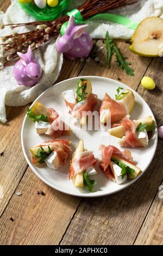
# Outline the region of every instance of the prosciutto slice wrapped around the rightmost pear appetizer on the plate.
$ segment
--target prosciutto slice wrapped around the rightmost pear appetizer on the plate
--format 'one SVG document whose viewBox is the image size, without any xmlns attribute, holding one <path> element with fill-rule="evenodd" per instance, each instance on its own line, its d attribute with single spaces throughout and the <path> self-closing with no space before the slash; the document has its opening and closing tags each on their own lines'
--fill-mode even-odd
<svg viewBox="0 0 163 256">
<path fill-rule="evenodd" d="M 136 137 L 136 127 L 137 123 L 135 120 L 130 120 L 127 117 L 124 117 L 120 124 L 115 126 L 123 125 L 125 129 L 126 136 L 124 136 L 120 141 L 121 147 L 126 148 L 135 148 L 135 147 L 143 147 L 142 143 Z"/>
</svg>

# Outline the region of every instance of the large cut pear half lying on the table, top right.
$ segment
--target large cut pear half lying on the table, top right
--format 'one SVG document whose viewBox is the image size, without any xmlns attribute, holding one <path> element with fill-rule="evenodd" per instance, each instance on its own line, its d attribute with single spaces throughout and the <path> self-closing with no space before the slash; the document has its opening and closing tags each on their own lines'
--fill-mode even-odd
<svg viewBox="0 0 163 256">
<path fill-rule="evenodd" d="M 160 56 L 163 42 L 163 19 L 148 17 L 143 20 L 133 34 L 131 42 L 129 49 L 135 54 L 145 57 Z"/>
</svg>

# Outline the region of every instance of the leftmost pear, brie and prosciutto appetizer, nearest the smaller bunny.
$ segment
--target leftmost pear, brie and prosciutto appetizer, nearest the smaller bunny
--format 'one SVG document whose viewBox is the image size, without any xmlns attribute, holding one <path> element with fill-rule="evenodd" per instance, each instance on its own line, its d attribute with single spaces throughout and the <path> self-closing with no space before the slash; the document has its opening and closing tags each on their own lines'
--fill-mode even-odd
<svg viewBox="0 0 163 256">
<path fill-rule="evenodd" d="M 39 101 L 32 109 L 28 108 L 27 117 L 35 123 L 35 129 L 39 135 L 45 133 L 52 138 L 59 138 L 62 134 L 69 135 L 71 133 L 70 130 L 65 130 L 65 124 L 57 111 L 43 106 Z"/>
</svg>

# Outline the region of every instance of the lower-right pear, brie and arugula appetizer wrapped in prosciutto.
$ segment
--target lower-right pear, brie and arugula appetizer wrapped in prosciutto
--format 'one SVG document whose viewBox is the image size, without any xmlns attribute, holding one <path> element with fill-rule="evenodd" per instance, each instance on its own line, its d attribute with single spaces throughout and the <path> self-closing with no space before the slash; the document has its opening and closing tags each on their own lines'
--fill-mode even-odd
<svg viewBox="0 0 163 256">
<path fill-rule="evenodd" d="M 129 150 L 121 152 L 112 145 L 101 145 L 99 150 L 102 153 L 99 167 L 109 180 L 122 184 L 127 179 L 136 178 L 141 173 L 141 169 L 136 166 Z"/>
</svg>

